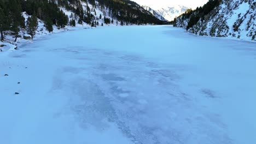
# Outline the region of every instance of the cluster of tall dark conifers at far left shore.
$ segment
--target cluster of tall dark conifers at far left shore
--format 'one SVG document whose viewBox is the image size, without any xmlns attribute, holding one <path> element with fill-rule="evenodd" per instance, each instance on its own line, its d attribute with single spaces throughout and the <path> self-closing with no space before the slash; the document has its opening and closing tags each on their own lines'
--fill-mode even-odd
<svg viewBox="0 0 256 144">
<path fill-rule="evenodd" d="M 31 15 L 25 23 L 22 12 Z M 68 24 L 68 16 L 58 7 L 54 0 L 0 0 L 0 32 L 1 40 L 4 40 L 4 31 L 15 35 L 15 41 L 20 29 L 26 29 L 29 34 L 35 34 L 38 20 L 45 22 L 49 32 L 53 31 L 53 25 L 65 27 Z"/>
</svg>

